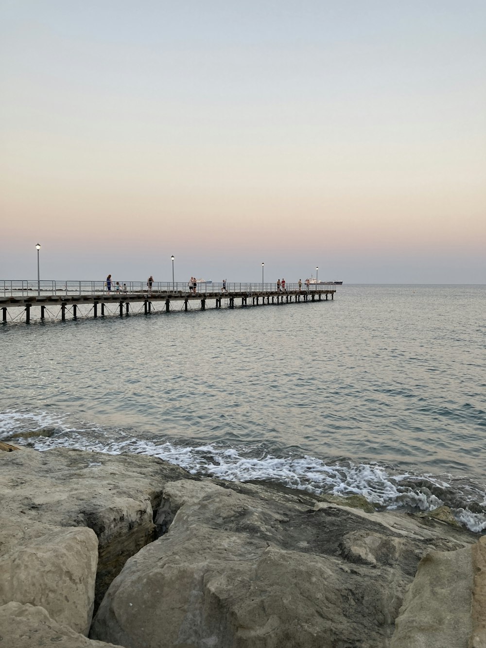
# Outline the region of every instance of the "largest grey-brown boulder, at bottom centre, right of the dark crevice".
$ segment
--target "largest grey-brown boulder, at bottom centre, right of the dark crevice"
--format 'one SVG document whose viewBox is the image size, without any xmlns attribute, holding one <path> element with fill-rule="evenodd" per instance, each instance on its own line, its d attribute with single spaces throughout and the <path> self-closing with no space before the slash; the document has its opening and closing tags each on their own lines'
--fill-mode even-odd
<svg viewBox="0 0 486 648">
<path fill-rule="evenodd" d="M 113 581 L 93 638 L 126 648 L 384 647 L 424 552 L 472 542 L 439 523 L 264 485 L 179 481 L 164 498 L 167 535 Z"/>
</svg>

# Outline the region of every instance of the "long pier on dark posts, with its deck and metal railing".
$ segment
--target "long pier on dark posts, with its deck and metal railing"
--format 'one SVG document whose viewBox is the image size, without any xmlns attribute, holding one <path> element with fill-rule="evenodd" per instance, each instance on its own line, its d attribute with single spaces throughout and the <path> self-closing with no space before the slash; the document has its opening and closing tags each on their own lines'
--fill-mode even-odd
<svg viewBox="0 0 486 648">
<path fill-rule="evenodd" d="M 45 319 L 78 319 L 117 315 L 149 315 L 173 310 L 206 310 L 334 299 L 333 284 L 314 283 L 300 288 L 296 283 L 277 290 L 275 283 L 198 282 L 196 290 L 186 283 L 143 282 L 111 284 L 103 281 L 10 281 L 0 280 L 0 310 L 3 324 L 25 317 L 25 323 Z"/>
</svg>

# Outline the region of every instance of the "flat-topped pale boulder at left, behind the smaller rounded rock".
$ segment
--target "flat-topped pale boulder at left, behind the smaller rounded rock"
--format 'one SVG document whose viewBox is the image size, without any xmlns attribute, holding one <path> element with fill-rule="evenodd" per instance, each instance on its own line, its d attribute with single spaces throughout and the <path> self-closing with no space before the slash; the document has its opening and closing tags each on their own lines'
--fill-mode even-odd
<svg viewBox="0 0 486 648">
<path fill-rule="evenodd" d="M 0 555 L 62 527 L 89 527 L 98 545 L 95 608 L 125 561 L 156 537 L 168 481 L 191 478 L 155 457 L 58 448 L 0 452 Z"/>
</svg>

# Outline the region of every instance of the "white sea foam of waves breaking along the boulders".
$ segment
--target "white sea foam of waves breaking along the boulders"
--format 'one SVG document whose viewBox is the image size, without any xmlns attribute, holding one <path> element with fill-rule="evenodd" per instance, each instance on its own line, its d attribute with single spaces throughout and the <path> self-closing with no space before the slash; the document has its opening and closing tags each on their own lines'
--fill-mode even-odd
<svg viewBox="0 0 486 648">
<path fill-rule="evenodd" d="M 9 424 L 5 426 L 7 418 Z M 11 436 L 35 425 L 38 429 L 54 426 L 56 433 L 51 437 L 19 439 L 19 443 L 40 451 L 63 447 L 95 450 L 107 454 L 143 454 L 159 457 L 192 474 L 205 474 L 222 480 L 275 481 L 292 489 L 315 494 L 359 494 L 378 509 L 431 511 L 443 505 L 444 501 L 430 489 L 436 488 L 439 492 L 446 493 L 450 488 L 448 482 L 430 475 L 424 478 L 423 475 L 414 476 L 410 472 L 392 474 L 389 469 L 380 465 L 351 462 L 327 464 L 316 457 L 277 457 L 268 453 L 255 457 L 248 456 L 251 454 L 251 448 L 248 452 L 249 449 L 243 447 L 224 448 L 211 444 L 185 446 L 170 441 L 155 443 L 133 437 L 123 430 L 116 430 L 114 437 L 113 431 L 110 435 L 106 430 L 95 426 L 89 426 L 89 430 L 80 429 L 81 426 L 73 429 L 67 419 L 46 412 L 36 415 L 14 412 L 0 415 L 0 434 L 6 434 L 6 427 L 9 428 L 8 433 Z M 12 430 L 12 426 L 16 430 Z M 91 434 L 87 435 L 86 432 Z M 414 485 L 414 480 L 417 480 L 417 485 Z M 424 487 L 424 480 L 430 488 Z M 486 529 L 485 513 L 469 511 L 466 500 L 463 507 L 452 508 L 452 512 L 461 524 L 472 531 L 480 533 Z"/>
</svg>

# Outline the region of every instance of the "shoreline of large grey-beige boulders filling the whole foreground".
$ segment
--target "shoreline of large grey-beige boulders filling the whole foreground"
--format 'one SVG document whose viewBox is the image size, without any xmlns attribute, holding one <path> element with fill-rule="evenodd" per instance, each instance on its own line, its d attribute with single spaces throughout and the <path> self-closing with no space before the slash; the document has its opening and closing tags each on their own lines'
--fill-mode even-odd
<svg viewBox="0 0 486 648">
<path fill-rule="evenodd" d="M 5 443 L 0 501 L 0 647 L 486 647 L 486 538 L 446 507 Z"/>
</svg>

